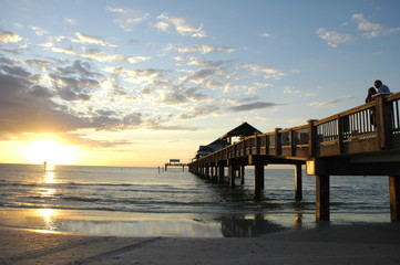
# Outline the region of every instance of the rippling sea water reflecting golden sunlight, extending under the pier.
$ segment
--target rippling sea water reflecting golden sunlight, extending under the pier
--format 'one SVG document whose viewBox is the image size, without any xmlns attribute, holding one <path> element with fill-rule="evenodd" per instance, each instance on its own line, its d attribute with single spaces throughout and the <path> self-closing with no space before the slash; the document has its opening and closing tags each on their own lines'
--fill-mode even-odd
<svg viewBox="0 0 400 265">
<path fill-rule="evenodd" d="M 257 236 L 318 225 L 315 177 L 265 170 L 253 198 L 253 169 L 234 189 L 182 168 L 0 165 L 0 225 L 96 235 Z M 237 181 L 239 182 L 239 181 Z M 387 177 L 331 177 L 331 222 L 389 222 Z"/>
</svg>

